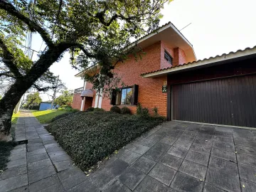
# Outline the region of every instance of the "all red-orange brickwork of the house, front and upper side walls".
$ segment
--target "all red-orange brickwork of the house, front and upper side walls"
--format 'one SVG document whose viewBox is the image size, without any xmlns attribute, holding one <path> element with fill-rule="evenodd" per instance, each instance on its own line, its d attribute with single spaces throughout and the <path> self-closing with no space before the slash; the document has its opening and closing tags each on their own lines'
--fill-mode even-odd
<svg viewBox="0 0 256 192">
<path fill-rule="evenodd" d="M 153 114 L 153 107 L 158 107 L 159 114 L 166 117 L 167 93 L 162 92 L 162 85 L 167 81 L 167 76 L 161 78 L 142 78 L 141 76 L 142 73 L 171 66 L 171 64 L 164 58 L 164 50 L 171 55 L 173 63 L 176 63 L 177 65 L 183 64 L 183 61 L 186 60 L 186 55 L 183 50 L 178 49 L 175 51 L 171 45 L 163 41 L 159 41 L 147 48 L 144 48 L 146 55 L 143 55 L 142 60 L 136 61 L 133 56 L 129 56 L 129 59 L 125 60 L 124 63 L 118 63 L 116 65 L 114 72 L 122 78 L 122 82 L 124 82 L 125 85 L 139 85 L 138 102 L 142 104 L 142 107 L 147 107 L 150 114 Z M 87 82 L 86 88 L 90 89 L 92 88 L 92 85 Z M 92 107 L 95 107 L 95 98 L 96 95 L 93 97 Z M 77 99 L 75 100 L 74 97 L 74 102 L 76 101 Z M 98 103 L 99 102 L 100 97 L 98 97 Z M 136 112 L 136 106 L 119 105 L 119 107 L 124 106 L 129 107 L 132 113 Z M 103 97 L 101 108 L 104 110 L 110 110 L 110 107 L 112 107 L 112 105 L 110 105 L 110 99 Z"/>
</svg>

